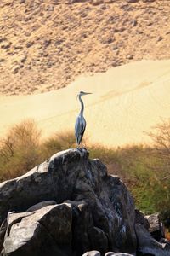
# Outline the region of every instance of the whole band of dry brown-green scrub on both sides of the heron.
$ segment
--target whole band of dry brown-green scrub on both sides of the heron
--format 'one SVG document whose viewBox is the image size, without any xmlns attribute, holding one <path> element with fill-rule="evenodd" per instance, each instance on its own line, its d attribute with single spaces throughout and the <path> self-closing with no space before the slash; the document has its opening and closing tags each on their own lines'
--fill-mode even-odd
<svg viewBox="0 0 170 256">
<path fill-rule="evenodd" d="M 88 147 L 91 158 L 104 161 L 112 174 L 127 183 L 136 206 L 145 213 L 161 211 L 169 216 L 170 204 L 170 120 L 164 120 L 150 132 L 154 146 L 105 148 Z M 60 133 L 41 141 L 41 132 L 34 121 L 26 120 L 8 131 L 0 144 L 0 179 L 17 177 L 47 160 L 52 154 L 75 148 L 71 133 Z"/>
</svg>

